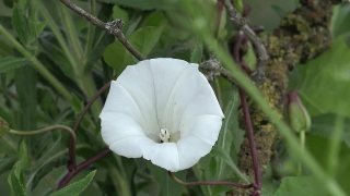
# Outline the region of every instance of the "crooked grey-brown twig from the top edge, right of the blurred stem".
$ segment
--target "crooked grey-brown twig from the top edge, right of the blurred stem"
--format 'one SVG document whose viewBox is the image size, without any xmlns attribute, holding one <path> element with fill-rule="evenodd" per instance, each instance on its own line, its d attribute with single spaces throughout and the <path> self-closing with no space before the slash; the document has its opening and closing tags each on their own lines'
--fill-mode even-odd
<svg viewBox="0 0 350 196">
<path fill-rule="evenodd" d="M 261 44 L 260 39 L 247 25 L 246 20 L 242 17 L 241 13 L 232 5 L 230 0 L 221 0 L 228 10 L 230 21 L 232 21 L 237 28 L 242 29 L 244 34 L 252 40 L 253 45 L 257 51 L 257 70 L 252 74 L 252 79 L 255 81 L 256 85 L 260 85 L 265 81 L 265 68 L 268 60 L 265 46 Z"/>
</svg>

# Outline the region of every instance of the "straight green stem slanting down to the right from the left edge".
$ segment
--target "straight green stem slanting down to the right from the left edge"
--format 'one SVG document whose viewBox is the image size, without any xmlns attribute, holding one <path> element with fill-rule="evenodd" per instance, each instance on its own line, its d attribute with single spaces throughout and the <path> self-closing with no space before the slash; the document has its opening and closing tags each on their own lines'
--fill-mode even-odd
<svg viewBox="0 0 350 196">
<path fill-rule="evenodd" d="M 70 100 L 70 93 L 65 86 L 31 53 L 28 52 L 19 41 L 16 41 L 11 34 L 9 34 L 2 25 L 0 25 L 0 33 L 8 38 L 8 40 L 18 49 L 28 61 L 32 62 L 37 72 L 39 72 L 52 86 L 68 100 Z"/>
</svg>

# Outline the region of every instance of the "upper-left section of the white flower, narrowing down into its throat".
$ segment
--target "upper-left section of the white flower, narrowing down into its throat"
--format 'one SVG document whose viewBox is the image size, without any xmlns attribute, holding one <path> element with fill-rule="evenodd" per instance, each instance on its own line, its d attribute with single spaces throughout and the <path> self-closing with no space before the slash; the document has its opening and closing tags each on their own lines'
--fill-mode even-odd
<svg viewBox="0 0 350 196">
<path fill-rule="evenodd" d="M 155 110 L 156 99 L 150 60 L 127 66 L 117 78 L 117 82 L 130 94 L 139 107 L 144 120 L 143 131 L 151 137 L 158 137 L 160 126 Z"/>
</svg>

